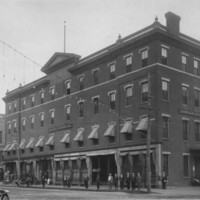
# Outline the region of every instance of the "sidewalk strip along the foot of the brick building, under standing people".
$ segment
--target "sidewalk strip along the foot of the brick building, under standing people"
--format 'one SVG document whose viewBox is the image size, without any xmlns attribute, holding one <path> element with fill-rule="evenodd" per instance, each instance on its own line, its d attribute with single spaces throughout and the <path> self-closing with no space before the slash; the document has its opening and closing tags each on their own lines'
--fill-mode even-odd
<svg viewBox="0 0 200 200">
<path fill-rule="evenodd" d="M 15 183 L 11 184 L 3 184 L 0 183 L 1 187 L 17 187 Z M 26 185 L 21 185 L 19 188 L 26 188 Z M 127 192 L 127 193 L 134 193 L 141 197 L 152 198 L 152 199 L 159 199 L 159 198 L 196 198 L 200 199 L 200 186 L 180 186 L 180 187 L 168 187 L 167 189 L 163 190 L 160 188 L 152 188 L 151 193 L 147 193 L 146 188 L 142 188 L 141 191 L 137 189 L 135 191 L 128 191 L 126 188 L 122 190 L 108 190 L 107 185 L 101 185 L 100 190 L 97 190 L 96 185 L 90 185 L 89 188 L 86 190 L 84 186 L 73 185 L 70 188 L 64 188 L 61 185 L 45 185 L 45 188 L 42 185 L 31 185 L 29 188 L 38 188 L 38 189 L 61 189 L 61 190 L 80 190 L 80 191 L 98 191 L 98 192 Z"/>
</svg>

